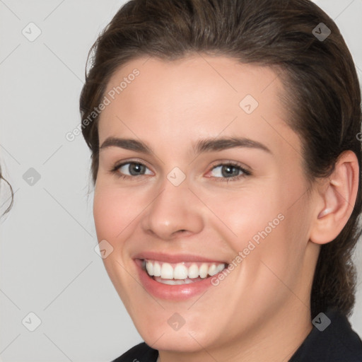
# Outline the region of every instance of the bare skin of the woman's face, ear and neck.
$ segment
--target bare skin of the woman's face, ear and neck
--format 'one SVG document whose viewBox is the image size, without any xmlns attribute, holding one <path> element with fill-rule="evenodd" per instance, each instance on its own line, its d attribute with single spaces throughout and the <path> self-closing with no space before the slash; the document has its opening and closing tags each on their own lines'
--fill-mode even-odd
<svg viewBox="0 0 362 362">
<path fill-rule="evenodd" d="M 300 139 L 286 125 L 274 71 L 206 54 L 140 58 L 113 74 L 107 92 L 135 68 L 139 76 L 105 107 L 98 127 L 100 145 L 122 137 L 153 151 L 100 150 L 93 214 L 98 240 L 114 248 L 103 260 L 112 283 L 160 361 L 288 361 L 313 327 L 310 289 L 320 244 L 338 235 L 356 199 L 354 153 L 344 153 L 335 173 L 307 192 Z M 239 105 L 248 94 L 259 103 L 250 115 Z M 271 152 L 192 150 L 200 139 L 228 136 Z M 147 173 L 117 177 L 120 170 L 110 170 L 120 161 L 144 163 Z M 230 161 L 252 175 L 226 182 L 215 166 Z M 167 178 L 175 167 L 186 175 L 177 187 Z M 284 220 L 202 296 L 164 300 L 141 286 L 137 252 L 231 262 L 279 214 Z M 173 313 L 185 320 L 177 331 L 168 325 Z"/>
</svg>

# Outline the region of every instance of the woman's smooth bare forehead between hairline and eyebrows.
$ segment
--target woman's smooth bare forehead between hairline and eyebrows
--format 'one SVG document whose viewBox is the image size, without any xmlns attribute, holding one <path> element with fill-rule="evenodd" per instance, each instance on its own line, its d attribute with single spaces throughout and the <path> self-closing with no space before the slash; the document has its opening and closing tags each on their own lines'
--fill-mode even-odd
<svg viewBox="0 0 362 362">
<path fill-rule="evenodd" d="M 108 136 L 169 141 L 245 136 L 269 148 L 298 147 L 286 126 L 276 72 L 228 57 L 196 55 L 164 61 L 139 58 L 117 69 L 107 84 L 110 104 L 100 115 L 100 144 Z"/>
</svg>

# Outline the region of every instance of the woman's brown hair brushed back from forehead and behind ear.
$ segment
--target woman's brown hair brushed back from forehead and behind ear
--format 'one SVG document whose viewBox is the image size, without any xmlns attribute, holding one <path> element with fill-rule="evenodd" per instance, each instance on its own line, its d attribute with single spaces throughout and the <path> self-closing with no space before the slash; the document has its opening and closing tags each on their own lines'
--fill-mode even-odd
<svg viewBox="0 0 362 362">
<path fill-rule="evenodd" d="M 320 23 L 331 30 L 325 40 L 313 32 Z M 197 52 L 279 69 L 291 112 L 288 125 L 302 141 L 310 182 L 330 175 L 343 151 L 356 153 L 356 204 L 337 238 L 321 247 L 310 297 L 312 316 L 329 307 L 351 315 L 356 288 L 351 257 L 361 235 L 361 144 L 356 137 L 361 131 L 361 91 L 337 25 L 311 1 L 132 0 L 122 6 L 91 49 L 91 69 L 80 99 L 82 119 L 92 121 L 82 124 L 82 132 L 92 151 L 93 182 L 99 141 L 98 115 L 92 111 L 115 70 L 137 57 L 173 60 Z"/>
</svg>

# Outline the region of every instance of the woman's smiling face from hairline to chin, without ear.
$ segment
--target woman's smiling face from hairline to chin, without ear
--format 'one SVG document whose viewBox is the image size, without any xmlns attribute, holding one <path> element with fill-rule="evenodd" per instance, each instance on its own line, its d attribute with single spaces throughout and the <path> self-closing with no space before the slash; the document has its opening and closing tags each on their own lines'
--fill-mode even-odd
<svg viewBox="0 0 362 362">
<path fill-rule="evenodd" d="M 283 92 L 267 67 L 206 55 L 136 59 L 110 79 L 95 226 L 153 348 L 216 349 L 309 315 L 313 194 Z"/>
</svg>

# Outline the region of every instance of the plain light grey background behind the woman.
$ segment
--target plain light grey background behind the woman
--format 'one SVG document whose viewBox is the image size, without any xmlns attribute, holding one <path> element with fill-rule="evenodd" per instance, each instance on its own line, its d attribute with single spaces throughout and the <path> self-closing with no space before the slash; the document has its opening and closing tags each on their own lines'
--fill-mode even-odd
<svg viewBox="0 0 362 362">
<path fill-rule="evenodd" d="M 0 161 L 16 192 L 0 223 L 1 361 L 107 362 L 141 341 L 94 251 L 90 153 L 82 136 L 65 138 L 80 122 L 88 49 L 124 2 L 0 0 Z M 362 0 L 315 2 L 339 25 L 361 79 Z M 30 22 L 42 32 L 33 42 L 22 34 Z M 40 174 L 33 186 L 29 168 Z M 3 187 L 1 204 L 7 197 Z M 351 324 L 362 336 L 359 244 Z M 30 312 L 41 320 L 34 332 L 22 324 Z"/>
</svg>

